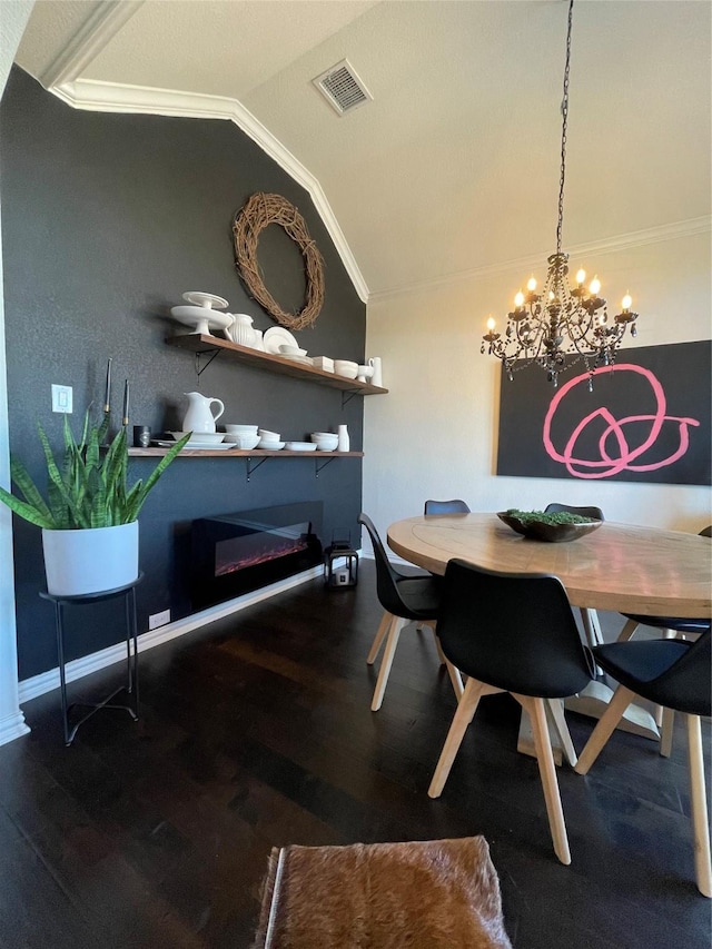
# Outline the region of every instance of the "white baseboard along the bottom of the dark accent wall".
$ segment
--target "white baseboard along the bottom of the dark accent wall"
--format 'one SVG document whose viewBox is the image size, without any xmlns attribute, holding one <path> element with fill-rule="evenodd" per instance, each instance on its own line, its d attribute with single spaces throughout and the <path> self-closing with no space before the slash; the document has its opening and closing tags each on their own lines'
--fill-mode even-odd
<svg viewBox="0 0 712 949">
<path fill-rule="evenodd" d="M 175 640 L 178 636 L 190 633 L 192 630 L 198 630 L 208 623 L 214 623 L 216 620 L 222 620 L 225 616 L 238 613 L 247 606 L 253 606 L 255 603 L 261 603 L 263 600 L 269 600 L 278 593 L 284 593 L 287 590 L 291 590 L 294 586 L 299 586 L 303 583 L 307 583 L 309 580 L 322 576 L 323 572 L 324 567 L 320 564 L 313 566 L 303 573 L 297 573 L 286 580 L 271 583 L 269 586 L 263 586 L 260 590 L 256 590 L 253 593 L 246 593 L 243 596 L 237 596 L 235 600 L 229 600 L 226 603 L 219 603 L 217 606 L 209 606 L 207 610 L 202 610 L 200 613 L 194 613 L 190 616 L 186 616 L 184 620 L 176 620 L 175 623 L 167 623 L 165 626 L 159 626 L 157 630 L 150 630 L 138 637 L 138 651 L 146 652 L 146 650 L 162 645 L 162 643 L 170 642 L 170 640 Z M 79 659 L 75 659 L 67 663 L 65 669 L 67 682 L 75 682 L 77 679 L 82 679 L 85 675 L 90 675 L 92 672 L 98 672 L 100 669 L 105 669 L 107 665 L 112 665 L 115 662 L 121 662 L 125 659 L 125 642 L 116 643 L 112 646 L 99 650 L 99 652 L 90 653 L 89 655 L 82 655 Z M 40 672 L 39 675 L 32 675 L 30 679 L 23 679 L 20 682 L 19 688 L 20 704 L 29 702 L 30 699 L 37 699 L 38 695 L 43 695 L 46 692 L 51 692 L 52 689 L 58 688 L 59 668 L 48 669 L 47 672 Z M 0 722 L 0 744 L 2 743 L 1 725 L 2 723 Z M 21 734 L 21 732 L 19 733 Z M 13 735 L 13 738 L 16 735 Z"/>
</svg>

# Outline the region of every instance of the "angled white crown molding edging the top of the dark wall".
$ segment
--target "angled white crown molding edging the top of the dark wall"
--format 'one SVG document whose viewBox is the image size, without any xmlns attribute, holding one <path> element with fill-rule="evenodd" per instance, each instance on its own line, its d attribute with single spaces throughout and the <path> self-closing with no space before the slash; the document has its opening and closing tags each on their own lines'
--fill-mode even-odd
<svg viewBox="0 0 712 949">
<path fill-rule="evenodd" d="M 263 151 L 269 155 L 280 168 L 308 191 L 342 258 L 354 289 L 364 303 L 368 303 L 369 294 L 366 281 L 322 186 L 310 171 L 237 99 L 78 78 L 53 85 L 49 91 L 72 108 L 87 111 L 132 112 L 191 119 L 227 119 L 235 122 L 245 135 L 251 138 Z"/>
</svg>

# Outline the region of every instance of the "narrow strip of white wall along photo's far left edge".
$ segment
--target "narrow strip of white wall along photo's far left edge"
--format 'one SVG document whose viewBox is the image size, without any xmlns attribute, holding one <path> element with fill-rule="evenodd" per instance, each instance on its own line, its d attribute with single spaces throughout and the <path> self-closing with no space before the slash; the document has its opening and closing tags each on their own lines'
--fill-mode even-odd
<svg viewBox="0 0 712 949">
<path fill-rule="evenodd" d="M 12 59 L 32 11 L 32 2 L 0 0 L 0 98 Z M 2 214 L 0 210 L 0 235 Z M 8 439 L 8 382 L 4 349 L 4 296 L 2 293 L 2 240 L 0 237 L 0 484 L 10 487 Z M 18 656 L 12 572 L 12 516 L 0 505 L 0 744 L 29 731 L 18 702 Z"/>
</svg>

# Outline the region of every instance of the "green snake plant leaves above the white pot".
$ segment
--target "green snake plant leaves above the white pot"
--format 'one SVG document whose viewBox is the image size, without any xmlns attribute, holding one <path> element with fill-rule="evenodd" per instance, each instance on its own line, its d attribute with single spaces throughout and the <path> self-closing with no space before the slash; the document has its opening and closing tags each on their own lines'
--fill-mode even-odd
<svg viewBox="0 0 712 949">
<path fill-rule="evenodd" d="M 0 487 L 0 501 L 31 524 L 52 531 L 113 527 L 136 521 L 148 493 L 190 437 L 187 434 L 170 447 L 146 483 L 139 478 L 129 487 L 126 428 L 119 428 L 108 448 L 102 447 L 109 429 L 108 413 L 99 426 L 90 426 L 87 412 L 79 443 L 65 416 L 61 461 L 55 458 L 39 423 L 37 428 L 47 464 L 47 498 L 24 465 L 11 456 L 10 474 L 23 500 Z"/>
</svg>

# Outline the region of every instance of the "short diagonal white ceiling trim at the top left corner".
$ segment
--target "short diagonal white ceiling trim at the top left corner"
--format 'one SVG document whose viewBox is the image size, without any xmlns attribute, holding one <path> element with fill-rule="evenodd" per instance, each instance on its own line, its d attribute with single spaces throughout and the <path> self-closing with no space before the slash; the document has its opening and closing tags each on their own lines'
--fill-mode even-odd
<svg viewBox="0 0 712 949">
<path fill-rule="evenodd" d="M 50 88 L 76 79 L 136 13 L 144 0 L 103 0 L 38 77 Z"/>
</svg>

